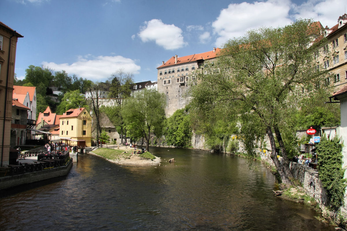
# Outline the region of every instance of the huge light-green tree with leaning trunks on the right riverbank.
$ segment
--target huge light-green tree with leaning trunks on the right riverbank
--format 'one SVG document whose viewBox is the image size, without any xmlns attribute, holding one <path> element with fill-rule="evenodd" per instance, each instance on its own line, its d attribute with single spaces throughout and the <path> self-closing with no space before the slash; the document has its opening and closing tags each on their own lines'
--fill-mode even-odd
<svg viewBox="0 0 347 231">
<path fill-rule="evenodd" d="M 281 28 L 251 30 L 244 37 L 229 40 L 219 59 L 197 73 L 200 83 L 192 92 L 194 107 L 213 109 L 223 104 L 226 114 L 237 108 L 248 154 L 254 154 L 254 141 L 267 134 L 271 159 L 285 185 L 292 184 L 293 176 L 281 130 L 287 126 L 287 115 L 299 108 L 300 99 L 310 97 L 308 91 L 315 94 L 316 86 L 323 85 L 327 77 L 312 55 L 325 43 L 324 38 L 307 46 L 313 34 L 319 33 L 311 21 L 297 20 Z M 273 134 L 283 164 L 277 158 Z"/>
</svg>

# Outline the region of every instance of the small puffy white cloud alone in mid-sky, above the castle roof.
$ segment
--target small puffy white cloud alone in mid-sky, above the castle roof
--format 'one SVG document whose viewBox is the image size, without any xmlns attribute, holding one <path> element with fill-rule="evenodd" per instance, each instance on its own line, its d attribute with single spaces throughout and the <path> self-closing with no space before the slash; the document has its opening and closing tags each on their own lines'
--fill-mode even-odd
<svg viewBox="0 0 347 231">
<path fill-rule="evenodd" d="M 174 50 L 187 45 L 183 40 L 182 30 L 174 24 L 164 24 L 160 19 L 145 21 L 145 26 L 137 34 L 142 42 L 155 41 L 166 50 Z"/>
</svg>

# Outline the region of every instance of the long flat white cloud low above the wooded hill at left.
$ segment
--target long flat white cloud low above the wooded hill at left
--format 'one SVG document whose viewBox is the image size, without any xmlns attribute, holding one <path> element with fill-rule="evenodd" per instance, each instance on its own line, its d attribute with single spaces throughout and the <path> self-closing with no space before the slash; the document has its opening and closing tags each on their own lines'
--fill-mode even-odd
<svg viewBox="0 0 347 231">
<path fill-rule="evenodd" d="M 76 74 L 78 77 L 87 78 L 92 81 L 103 81 L 110 77 L 116 70 L 122 68 L 125 72 L 138 74 L 141 67 L 135 61 L 122 56 L 98 56 L 91 57 L 90 54 L 79 56 L 72 64 L 42 62 L 44 66 L 55 71 L 65 70 L 69 75 Z"/>
</svg>

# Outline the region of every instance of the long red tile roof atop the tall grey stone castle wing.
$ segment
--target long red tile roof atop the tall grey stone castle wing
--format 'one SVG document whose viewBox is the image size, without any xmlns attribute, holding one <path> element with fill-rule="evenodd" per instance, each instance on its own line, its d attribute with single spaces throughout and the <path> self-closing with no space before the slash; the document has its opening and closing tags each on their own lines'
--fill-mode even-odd
<svg viewBox="0 0 347 231">
<path fill-rule="evenodd" d="M 177 63 L 175 63 L 175 56 L 172 56 L 171 59 L 166 61 L 161 66 L 158 66 L 157 69 L 168 67 L 168 66 L 173 66 L 173 65 L 179 65 L 179 64 L 194 62 L 197 60 L 213 59 L 218 55 L 218 52 L 220 50 L 221 50 L 220 48 L 216 48 L 215 52 L 208 51 L 208 52 L 204 52 L 204 53 L 200 53 L 200 54 L 193 54 L 193 55 L 187 55 L 187 56 L 183 56 L 183 57 L 177 57 Z"/>
</svg>

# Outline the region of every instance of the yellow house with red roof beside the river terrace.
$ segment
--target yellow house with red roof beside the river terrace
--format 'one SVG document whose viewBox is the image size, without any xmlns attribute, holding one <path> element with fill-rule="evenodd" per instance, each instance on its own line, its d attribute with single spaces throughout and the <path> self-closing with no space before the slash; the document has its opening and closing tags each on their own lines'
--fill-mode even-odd
<svg viewBox="0 0 347 231">
<path fill-rule="evenodd" d="M 91 146 L 92 116 L 82 108 L 67 110 L 60 117 L 58 139 L 71 145 Z"/>
</svg>

